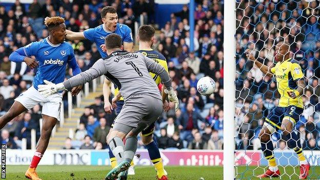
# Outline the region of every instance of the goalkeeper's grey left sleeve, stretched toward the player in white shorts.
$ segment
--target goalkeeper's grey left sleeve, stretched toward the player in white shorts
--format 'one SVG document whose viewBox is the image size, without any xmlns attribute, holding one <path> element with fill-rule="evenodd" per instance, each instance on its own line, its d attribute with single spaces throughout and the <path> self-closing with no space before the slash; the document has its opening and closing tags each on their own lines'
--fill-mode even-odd
<svg viewBox="0 0 320 180">
<path fill-rule="evenodd" d="M 69 78 L 63 84 L 66 89 L 71 89 L 75 86 L 83 85 L 87 82 L 90 82 L 92 79 L 97 78 L 98 76 L 101 76 L 106 73 L 107 68 L 105 66 L 104 60 L 99 59 L 92 65 L 90 69 Z"/>
</svg>

